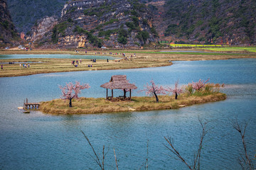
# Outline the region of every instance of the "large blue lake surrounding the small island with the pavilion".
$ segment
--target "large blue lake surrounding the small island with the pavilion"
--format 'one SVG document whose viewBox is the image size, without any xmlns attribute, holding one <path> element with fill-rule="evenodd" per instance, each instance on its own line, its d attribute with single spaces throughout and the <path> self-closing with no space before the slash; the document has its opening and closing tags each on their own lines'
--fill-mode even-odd
<svg viewBox="0 0 256 170">
<path fill-rule="evenodd" d="M 89 83 L 80 96 L 105 97 L 101 84 L 115 74 L 126 74 L 143 89 L 146 82 L 172 85 L 179 79 L 188 84 L 198 79 L 226 84 L 227 100 L 176 110 L 102 113 L 89 115 L 23 114 L 17 111 L 23 100 L 48 101 L 60 97 L 58 85 L 69 81 Z M 140 169 L 149 147 L 149 169 L 187 169 L 167 156 L 165 136 L 171 136 L 178 151 L 189 163 L 200 142 L 198 116 L 210 120 L 203 145 L 201 169 L 240 169 L 242 143 L 230 120 L 250 120 L 245 140 L 251 155 L 256 154 L 256 60 L 214 60 L 174 62 L 169 67 L 88 72 L 37 74 L 0 78 L 0 169 L 98 169 L 85 132 L 97 153 L 109 149 L 105 166 L 115 169 L 113 148 L 119 169 Z M 133 91 L 134 96 L 144 96 Z M 119 91 L 114 91 L 119 95 Z"/>
</svg>

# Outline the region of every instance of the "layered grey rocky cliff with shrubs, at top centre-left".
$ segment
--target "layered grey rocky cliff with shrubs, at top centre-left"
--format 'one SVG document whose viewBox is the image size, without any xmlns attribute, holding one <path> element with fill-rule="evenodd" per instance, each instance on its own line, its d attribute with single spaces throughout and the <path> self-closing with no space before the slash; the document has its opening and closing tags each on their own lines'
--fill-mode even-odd
<svg viewBox="0 0 256 170">
<path fill-rule="evenodd" d="M 53 28 L 58 47 L 139 47 L 157 42 L 148 8 L 139 1 L 83 0 L 65 4 Z"/>
</svg>

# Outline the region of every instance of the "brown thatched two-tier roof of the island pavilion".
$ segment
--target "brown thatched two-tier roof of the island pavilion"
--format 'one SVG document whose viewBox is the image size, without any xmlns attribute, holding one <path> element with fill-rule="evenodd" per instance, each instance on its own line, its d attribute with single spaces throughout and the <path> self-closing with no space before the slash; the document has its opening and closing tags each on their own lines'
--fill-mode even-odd
<svg viewBox="0 0 256 170">
<path fill-rule="evenodd" d="M 129 83 L 126 75 L 114 75 L 110 82 L 102 84 L 101 87 L 105 89 L 137 89 L 137 86 Z"/>
</svg>

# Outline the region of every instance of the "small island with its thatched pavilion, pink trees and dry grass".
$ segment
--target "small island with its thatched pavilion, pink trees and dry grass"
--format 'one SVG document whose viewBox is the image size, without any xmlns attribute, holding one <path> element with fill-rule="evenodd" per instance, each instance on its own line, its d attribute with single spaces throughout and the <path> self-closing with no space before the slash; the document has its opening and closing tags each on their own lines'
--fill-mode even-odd
<svg viewBox="0 0 256 170">
<path fill-rule="evenodd" d="M 209 79 L 208 79 L 209 80 Z M 39 111 L 51 114 L 87 114 L 87 113 L 113 113 L 129 111 L 154 111 L 164 109 L 175 109 L 193 104 L 223 101 L 226 95 L 220 93 L 220 84 L 210 84 L 208 80 L 192 82 L 187 86 L 178 87 L 178 81 L 174 88 L 159 86 L 153 80 L 146 84 L 145 89 L 149 96 L 131 96 L 131 89 L 137 86 L 130 84 L 125 75 L 112 76 L 110 82 L 102 84 L 101 87 L 112 90 L 112 96 L 106 98 L 78 98 L 81 89 L 89 89 L 89 84 L 69 83 L 60 86 L 63 98 L 54 99 L 40 103 Z M 124 91 L 124 96 L 113 96 L 113 89 Z M 129 96 L 126 96 L 127 92 Z M 73 93 L 75 92 L 75 93 Z M 64 100 L 63 100 L 64 99 Z"/>
</svg>

